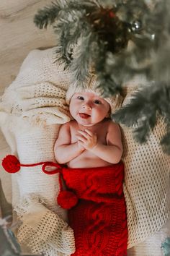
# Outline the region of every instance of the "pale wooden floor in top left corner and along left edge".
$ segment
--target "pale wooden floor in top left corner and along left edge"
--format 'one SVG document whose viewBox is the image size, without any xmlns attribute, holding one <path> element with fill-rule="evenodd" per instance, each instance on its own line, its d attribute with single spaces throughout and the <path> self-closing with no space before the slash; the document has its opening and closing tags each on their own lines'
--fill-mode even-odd
<svg viewBox="0 0 170 256">
<path fill-rule="evenodd" d="M 50 0 L 0 1 L 0 95 L 17 76 L 22 61 L 32 49 L 55 45 L 53 30 L 39 30 L 33 23 L 37 9 L 50 3 Z M 9 153 L 9 146 L 0 131 L 0 162 Z M 8 189 L 11 176 L 2 171 L 1 164 L 0 179 L 6 199 L 11 202 Z"/>
</svg>

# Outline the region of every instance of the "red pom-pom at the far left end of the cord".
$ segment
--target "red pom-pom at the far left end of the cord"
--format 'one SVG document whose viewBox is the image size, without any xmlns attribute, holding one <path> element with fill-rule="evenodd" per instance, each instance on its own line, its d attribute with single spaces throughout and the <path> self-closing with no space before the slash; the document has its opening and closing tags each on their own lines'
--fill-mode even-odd
<svg viewBox="0 0 170 256">
<path fill-rule="evenodd" d="M 20 169 L 19 160 L 14 155 L 6 155 L 1 164 L 5 171 L 9 172 L 10 174 L 14 174 Z"/>
</svg>

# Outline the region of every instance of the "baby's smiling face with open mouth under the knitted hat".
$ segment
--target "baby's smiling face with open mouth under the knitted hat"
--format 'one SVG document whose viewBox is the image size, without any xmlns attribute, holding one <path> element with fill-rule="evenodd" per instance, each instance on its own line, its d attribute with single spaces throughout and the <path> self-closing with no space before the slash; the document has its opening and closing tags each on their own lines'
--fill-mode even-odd
<svg viewBox="0 0 170 256">
<path fill-rule="evenodd" d="M 95 93 L 74 93 L 70 112 L 79 124 L 90 127 L 102 121 L 109 113 L 109 103 Z"/>
</svg>

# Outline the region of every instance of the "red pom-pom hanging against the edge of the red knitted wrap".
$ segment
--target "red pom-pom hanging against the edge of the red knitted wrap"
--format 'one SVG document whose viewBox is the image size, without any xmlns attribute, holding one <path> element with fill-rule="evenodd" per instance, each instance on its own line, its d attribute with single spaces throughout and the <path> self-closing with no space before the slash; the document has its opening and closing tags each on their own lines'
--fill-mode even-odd
<svg viewBox="0 0 170 256">
<path fill-rule="evenodd" d="M 57 197 L 58 205 L 63 209 L 71 209 L 78 202 L 78 197 L 71 191 L 63 190 Z"/>
</svg>

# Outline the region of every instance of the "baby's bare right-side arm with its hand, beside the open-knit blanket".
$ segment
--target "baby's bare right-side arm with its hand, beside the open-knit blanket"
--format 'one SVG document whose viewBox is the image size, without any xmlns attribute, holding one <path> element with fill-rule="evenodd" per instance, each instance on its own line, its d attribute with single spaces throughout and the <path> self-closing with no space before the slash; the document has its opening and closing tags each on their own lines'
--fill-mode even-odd
<svg viewBox="0 0 170 256">
<path fill-rule="evenodd" d="M 81 145 L 108 163 L 119 163 L 122 157 L 122 136 L 118 124 L 110 121 L 107 131 L 107 145 L 97 142 L 97 137 L 88 129 L 81 132 Z"/>
</svg>

